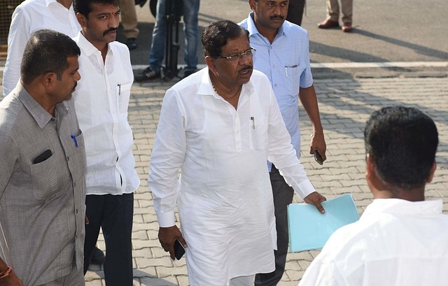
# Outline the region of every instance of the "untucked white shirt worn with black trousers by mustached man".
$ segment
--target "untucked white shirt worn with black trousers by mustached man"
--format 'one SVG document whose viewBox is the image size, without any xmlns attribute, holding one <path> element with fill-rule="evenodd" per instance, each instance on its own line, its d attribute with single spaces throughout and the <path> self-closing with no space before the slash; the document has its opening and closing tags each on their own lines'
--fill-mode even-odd
<svg viewBox="0 0 448 286">
<path fill-rule="evenodd" d="M 134 81 L 129 50 L 122 43 L 109 43 L 104 64 L 101 52 L 81 33 L 73 40 L 81 50 L 81 79 L 73 97 L 85 140 L 87 194 L 132 193 L 140 180 L 127 122 Z"/>
</svg>

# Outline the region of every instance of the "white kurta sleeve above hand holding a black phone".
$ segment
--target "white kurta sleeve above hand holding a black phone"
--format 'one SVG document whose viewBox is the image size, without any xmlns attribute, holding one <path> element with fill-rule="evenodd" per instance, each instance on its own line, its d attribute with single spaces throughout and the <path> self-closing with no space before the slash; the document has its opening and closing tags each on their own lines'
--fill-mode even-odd
<svg viewBox="0 0 448 286">
<path fill-rule="evenodd" d="M 177 174 L 186 154 L 186 113 L 178 94 L 167 90 L 160 111 L 148 175 L 160 227 L 175 224 Z"/>
</svg>

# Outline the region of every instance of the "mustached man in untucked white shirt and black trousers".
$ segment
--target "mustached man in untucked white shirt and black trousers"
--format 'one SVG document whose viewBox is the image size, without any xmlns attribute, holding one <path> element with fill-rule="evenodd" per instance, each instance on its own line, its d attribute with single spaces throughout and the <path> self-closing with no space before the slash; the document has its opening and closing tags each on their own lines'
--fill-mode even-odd
<svg viewBox="0 0 448 286">
<path fill-rule="evenodd" d="M 127 122 L 134 80 L 130 52 L 115 41 L 120 21 L 117 0 L 74 0 L 73 8 L 81 26 L 74 40 L 81 49 L 83 73 L 75 106 L 87 155 L 84 273 L 102 228 L 106 285 L 132 286 L 132 217 L 140 180 Z"/>
</svg>

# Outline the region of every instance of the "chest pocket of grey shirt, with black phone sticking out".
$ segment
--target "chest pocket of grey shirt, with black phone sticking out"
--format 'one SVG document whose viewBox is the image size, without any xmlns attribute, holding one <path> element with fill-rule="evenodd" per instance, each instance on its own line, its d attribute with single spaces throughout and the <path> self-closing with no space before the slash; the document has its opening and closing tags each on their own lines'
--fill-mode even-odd
<svg viewBox="0 0 448 286">
<path fill-rule="evenodd" d="M 45 161 L 32 164 L 30 168 L 34 197 L 38 200 L 48 199 L 59 192 L 59 180 L 56 169 L 55 154 Z"/>
</svg>

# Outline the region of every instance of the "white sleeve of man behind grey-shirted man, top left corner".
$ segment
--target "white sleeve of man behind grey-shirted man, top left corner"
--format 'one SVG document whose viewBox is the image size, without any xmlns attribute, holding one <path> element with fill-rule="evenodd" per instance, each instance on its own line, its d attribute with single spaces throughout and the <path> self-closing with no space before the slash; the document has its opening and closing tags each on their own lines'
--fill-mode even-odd
<svg viewBox="0 0 448 286">
<path fill-rule="evenodd" d="M 20 64 L 29 36 L 29 15 L 20 8 L 15 9 L 8 34 L 8 55 L 3 71 L 3 96 L 12 92 L 20 79 Z"/>
</svg>

